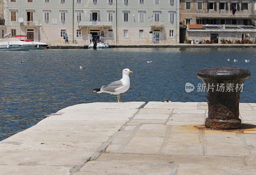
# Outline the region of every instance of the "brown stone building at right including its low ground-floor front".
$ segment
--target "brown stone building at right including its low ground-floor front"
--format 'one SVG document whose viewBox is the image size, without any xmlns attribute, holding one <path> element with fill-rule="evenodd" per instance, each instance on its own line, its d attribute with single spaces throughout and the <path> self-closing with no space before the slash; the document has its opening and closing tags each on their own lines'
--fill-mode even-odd
<svg viewBox="0 0 256 175">
<path fill-rule="evenodd" d="M 256 4 L 253 0 L 181 0 L 180 43 L 188 40 L 253 40 Z"/>
</svg>

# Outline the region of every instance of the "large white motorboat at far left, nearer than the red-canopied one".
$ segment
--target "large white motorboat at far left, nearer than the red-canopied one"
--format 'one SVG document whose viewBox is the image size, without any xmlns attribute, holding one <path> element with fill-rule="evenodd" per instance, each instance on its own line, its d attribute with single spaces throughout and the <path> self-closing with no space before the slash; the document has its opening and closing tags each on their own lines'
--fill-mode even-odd
<svg viewBox="0 0 256 175">
<path fill-rule="evenodd" d="M 30 42 L 20 41 L 18 38 L 12 38 L 12 34 L 5 34 L 2 39 L 0 39 L 0 51 L 28 51 L 36 44 Z"/>
</svg>

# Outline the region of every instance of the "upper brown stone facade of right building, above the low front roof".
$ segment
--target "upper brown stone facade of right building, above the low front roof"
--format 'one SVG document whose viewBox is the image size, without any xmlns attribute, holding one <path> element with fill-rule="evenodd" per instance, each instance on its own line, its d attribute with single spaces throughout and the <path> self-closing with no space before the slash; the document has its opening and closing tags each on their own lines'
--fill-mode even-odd
<svg viewBox="0 0 256 175">
<path fill-rule="evenodd" d="M 180 20 L 184 24 L 255 24 L 254 0 L 181 0 Z"/>
</svg>

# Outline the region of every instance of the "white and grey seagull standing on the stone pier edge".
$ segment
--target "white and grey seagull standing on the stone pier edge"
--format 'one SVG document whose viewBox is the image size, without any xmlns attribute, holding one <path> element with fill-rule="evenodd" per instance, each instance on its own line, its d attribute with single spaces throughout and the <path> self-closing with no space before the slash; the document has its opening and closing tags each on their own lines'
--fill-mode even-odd
<svg viewBox="0 0 256 175">
<path fill-rule="evenodd" d="M 108 85 L 101 86 L 101 88 L 93 89 L 92 92 L 102 93 L 107 92 L 110 94 L 117 95 L 117 102 L 123 103 L 120 101 L 120 93 L 126 92 L 130 87 L 130 77 L 129 74 L 132 73 L 131 70 L 125 68 L 123 70 L 123 77 L 121 80 L 114 81 Z"/>
</svg>

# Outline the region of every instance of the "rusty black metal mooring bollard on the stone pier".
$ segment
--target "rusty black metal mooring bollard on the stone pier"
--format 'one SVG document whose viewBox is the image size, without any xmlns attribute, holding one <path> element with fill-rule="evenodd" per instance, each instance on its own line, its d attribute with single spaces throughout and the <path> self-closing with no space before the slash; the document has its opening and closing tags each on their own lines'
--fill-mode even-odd
<svg viewBox="0 0 256 175">
<path fill-rule="evenodd" d="M 208 118 L 205 126 L 222 130 L 241 128 L 240 94 L 251 72 L 244 68 L 212 67 L 203 68 L 196 74 L 207 90 Z"/>
</svg>

